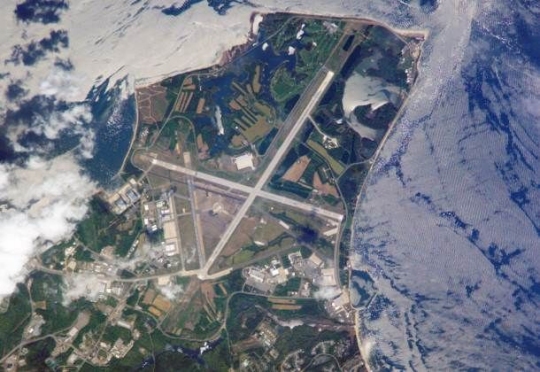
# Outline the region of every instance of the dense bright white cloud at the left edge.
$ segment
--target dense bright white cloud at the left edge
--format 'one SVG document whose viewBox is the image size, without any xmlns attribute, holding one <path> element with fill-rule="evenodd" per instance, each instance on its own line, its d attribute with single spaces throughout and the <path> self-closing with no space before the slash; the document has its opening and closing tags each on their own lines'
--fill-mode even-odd
<svg viewBox="0 0 540 372">
<path fill-rule="evenodd" d="M 68 238 L 87 212 L 95 185 L 75 159 L 30 158 L 24 167 L 0 165 L 0 296 L 9 294 L 40 248 Z"/>
</svg>

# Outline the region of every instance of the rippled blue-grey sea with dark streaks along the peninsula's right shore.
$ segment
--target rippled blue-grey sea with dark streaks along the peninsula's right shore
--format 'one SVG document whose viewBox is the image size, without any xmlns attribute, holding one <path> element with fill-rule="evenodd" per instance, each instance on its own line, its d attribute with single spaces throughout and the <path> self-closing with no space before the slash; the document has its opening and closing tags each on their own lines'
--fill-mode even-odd
<svg viewBox="0 0 540 372">
<path fill-rule="evenodd" d="M 374 370 L 540 370 L 540 9 L 479 2 L 448 71 L 447 4 L 357 211 L 360 344 Z"/>
</svg>

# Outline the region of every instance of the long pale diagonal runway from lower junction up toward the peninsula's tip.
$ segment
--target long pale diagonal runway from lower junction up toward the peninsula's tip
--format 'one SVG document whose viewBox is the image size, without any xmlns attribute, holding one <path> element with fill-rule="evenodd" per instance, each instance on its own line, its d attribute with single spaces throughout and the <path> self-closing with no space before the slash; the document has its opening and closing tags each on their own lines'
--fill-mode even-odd
<svg viewBox="0 0 540 372">
<path fill-rule="evenodd" d="M 292 112 L 287 117 L 284 125 L 287 125 L 289 123 L 294 122 L 294 126 L 291 129 L 291 131 L 288 133 L 287 137 L 285 138 L 283 144 L 279 147 L 278 151 L 276 152 L 276 155 L 272 158 L 272 161 L 270 164 L 266 167 L 264 172 L 262 173 L 261 177 L 259 178 L 259 181 L 253 188 L 254 190 L 248 195 L 246 201 L 244 204 L 242 204 L 242 207 L 240 207 L 240 210 L 236 213 L 233 220 L 227 227 L 227 230 L 223 233 L 223 236 L 221 237 L 218 245 L 212 252 L 212 255 L 208 258 L 206 261 L 206 265 L 201 270 L 202 273 L 199 276 L 201 280 L 206 279 L 208 270 L 212 265 L 214 264 L 214 261 L 217 257 L 221 254 L 221 251 L 223 248 L 225 248 L 225 245 L 229 241 L 230 237 L 240 225 L 240 222 L 246 215 L 249 207 L 251 207 L 251 204 L 253 204 L 253 201 L 255 201 L 255 198 L 259 195 L 261 189 L 264 185 L 266 185 L 266 182 L 270 178 L 270 176 L 274 173 L 274 170 L 279 165 L 279 162 L 281 161 L 281 158 L 285 155 L 286 151 L 289 149 L 289 146 L 291 145 L 292 141 L 300 131 L 300 128 L 302 128 L 304 122 L 306 121 L 306 118 L 311 113 L 311 111 L 315 108 L 315 105 L 319 103 L 319 100 L 322 98 L 324 92 L 326 92 L 326 88 L 330 85 L 332 82 L 332 79 L 334 78 L 334 72 L 326 70 L 326 68 L 323 68 L 319 71 L 318 74 L 324 74 L 324 78 L 322 81 L 318 83 L 319 76 L 315 77 L 313 80 L 313 84 L 310 84 L 308 88 L 304 91 L 302 96 L 300 97 L 299 101 L 296 103 L 295 107 L 293 108 Z M 312 92 L 312 89 L 316 89 L 315 92 Z M 306 103 L 307 100 L 307 103 Z M 300 112 L 298 113 L 298 110 Z M 289 122 L 289 123 L 287 123 Z"/>
</svg>

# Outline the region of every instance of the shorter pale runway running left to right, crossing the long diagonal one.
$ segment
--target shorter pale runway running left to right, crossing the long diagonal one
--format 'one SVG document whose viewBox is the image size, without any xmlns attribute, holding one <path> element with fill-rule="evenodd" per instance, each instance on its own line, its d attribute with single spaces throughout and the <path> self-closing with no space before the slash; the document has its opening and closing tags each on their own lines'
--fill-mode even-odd
<svg viewBox="0 0 540 372">
<path fill-rule="evenodd" d="M 267 200 L 274 201 L 276 203 L 288 205 L 297 209 L 301 209 L 305 212 L 314 213 L 319 216 L 330 218 L 332 220 L 341 222 L 344 217 L 340 213 L 332 212 L 332 211 L 329 211 L 329 210 L 326 210 L 326 209 L 323 209 L 323 208 L 320 208 L 320 207 L 317 207 L 308 203 L 303 203 L 298 200 L 287 198 L 285 196 L 272 194 L 264 190 L 257 190 L 255 187 L 242 185 L 241 183 L 237 183 L 237 182 L 230 181 L 224 178 L 212 176 L 211 174 L 194 171 L 192 169 L 185 168 L 180 165 L 173 164 L 173 163 L 168 163 L 162 160 L 152 159 L 152 165 L 165 168 L 173 172 L 183 173 L 186 176 L 198 178 L 198 179 L 210 182 L 210 183 L 215 183 L 217 185 L 226 186 L 226 187 L 229 187 L 230 189 L 245 192 L 248 195 L 255 193 L 256 194 L 255 196 L 259 196 L 263 199 L 267 199 Z"/>
</svg>

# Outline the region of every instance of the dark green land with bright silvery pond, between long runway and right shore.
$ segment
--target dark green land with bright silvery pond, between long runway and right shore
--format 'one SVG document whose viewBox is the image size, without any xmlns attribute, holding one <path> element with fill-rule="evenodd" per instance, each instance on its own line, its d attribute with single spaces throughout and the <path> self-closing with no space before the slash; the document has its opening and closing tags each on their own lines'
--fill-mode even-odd
<svg viewBox="0 0 540 372">
<path fill-rule="evenodd" d="M 339 74 L 267 190 L 347 208 L 351 216 L 371 160 L 410 90 L 415 51 L 380 27 L 351 23 L 344 30 L 349 36 L 336 52 Z"/>
</svg>

